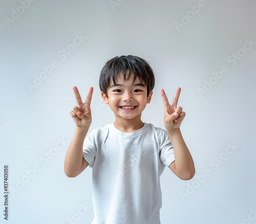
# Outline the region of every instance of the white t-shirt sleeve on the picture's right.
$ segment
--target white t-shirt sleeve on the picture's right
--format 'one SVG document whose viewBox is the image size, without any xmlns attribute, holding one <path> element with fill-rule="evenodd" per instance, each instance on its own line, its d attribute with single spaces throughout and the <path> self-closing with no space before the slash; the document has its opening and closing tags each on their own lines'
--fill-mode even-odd
<svg viewBox="0 0 256 224">
<path fill-rule="evenodd" d="M 173 161 L 175 161 L 173 143 L 170 141 L 170 138 L 165 130 L 162 129 L 159 136 L 160 159 L 164 165 L 169 166 Z"/>
</svg>

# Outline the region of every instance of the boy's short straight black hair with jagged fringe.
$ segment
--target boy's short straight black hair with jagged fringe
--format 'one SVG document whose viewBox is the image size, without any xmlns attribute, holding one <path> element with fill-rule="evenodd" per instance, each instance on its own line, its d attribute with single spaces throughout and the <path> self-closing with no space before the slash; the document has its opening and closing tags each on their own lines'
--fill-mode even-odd
<svg viewBox="0 0 256 224">
<path fill-rule="evenodd" d="M 116 78 L 121 74 L 126 80 L 126 72 L 129 72 L 127 79 L 130 79 L 131 74 L 134 75 L 134 80 L 139 78 L 147 87 L 147 96 L 155 86 L 155 76 L 150 64 L 143 58 L 128 55 L 117 56 L 107 61 L 100 72 L 99 88 L 108 97 L 108 88 L 110 87 L 111 79 L 116 85 Z"/>
</svg>

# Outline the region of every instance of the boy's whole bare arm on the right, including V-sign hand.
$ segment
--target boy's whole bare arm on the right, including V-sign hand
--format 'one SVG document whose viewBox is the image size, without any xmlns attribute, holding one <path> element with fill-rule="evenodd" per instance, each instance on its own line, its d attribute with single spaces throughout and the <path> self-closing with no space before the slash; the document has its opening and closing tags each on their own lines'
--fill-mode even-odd
<svg viewBox="0 0 256 224">
<path fill-rule="evenodd" d="M 181 88 L 177 88 L 173 103 L 170 105 L 164 90 L 160 89 L 164 105 L 164 125 L 170 141 L 173 144 L 175 156 L 175 161 L 169 165 L 169 168 L 180 179 L 190 180 L 194 177 L 196 170 L 194 161 L 180 131 L 181 122 L 186 115 L 185 112 L 182 111 L 182 107 L 177 107 L 180 91 Z"/>
</svg>

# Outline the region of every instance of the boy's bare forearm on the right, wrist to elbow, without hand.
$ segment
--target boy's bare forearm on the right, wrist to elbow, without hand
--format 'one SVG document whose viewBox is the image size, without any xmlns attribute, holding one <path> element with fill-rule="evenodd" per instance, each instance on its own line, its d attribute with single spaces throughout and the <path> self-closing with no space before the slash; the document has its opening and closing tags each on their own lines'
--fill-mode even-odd
<svg viewBox="0 0 256 224">
<path fill-rule="evenodd" d="M 173 143 L 175 166 L 179 177 L 193 177 L 195 175 L 195 165 L 193 158 L 181 135 L 180 129 L 168 131 L 167 134 Z"/>
</svg>

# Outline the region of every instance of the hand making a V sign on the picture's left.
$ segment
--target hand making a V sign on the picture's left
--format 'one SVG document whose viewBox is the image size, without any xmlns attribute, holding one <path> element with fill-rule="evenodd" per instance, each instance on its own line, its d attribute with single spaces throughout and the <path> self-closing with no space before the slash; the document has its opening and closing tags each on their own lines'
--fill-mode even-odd
<svg viewBox="0 0 256 224">
<path fill-rule="evenodd" d="M 70 111 L 70 115 L 72 116 L 75 124 L 79 128 L 89 128 L 92 123 L 92 114 L 90 109 L 91 99 L 93 95 L 93 87 L 89 88 L 89 91 L 86 96 L 86 101 L 82 103 L 81 96 L 78 92 L 76 86 L 73 87 L 73 91 L 76 97 L 76 103 L 78 105 L 73 107 L 73 110 Z"/>
</svg>

